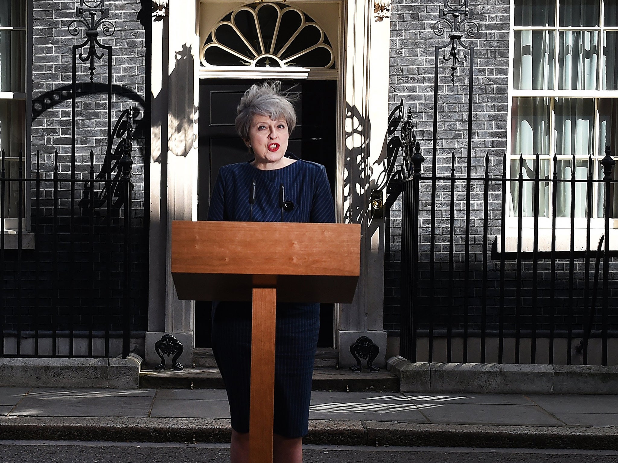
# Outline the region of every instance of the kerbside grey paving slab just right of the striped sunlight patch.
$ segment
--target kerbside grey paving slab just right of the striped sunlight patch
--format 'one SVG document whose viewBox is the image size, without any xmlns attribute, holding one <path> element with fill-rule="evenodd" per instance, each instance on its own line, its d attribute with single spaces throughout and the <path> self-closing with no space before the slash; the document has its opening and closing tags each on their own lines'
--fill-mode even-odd
<svg viewBox="0 0 618 463">
<path fill-rule="evenodd" d="M 501 404 L 431 404 L 418 406 L 431 423 L 561 426 L 540 407 Z"/>
</svg>

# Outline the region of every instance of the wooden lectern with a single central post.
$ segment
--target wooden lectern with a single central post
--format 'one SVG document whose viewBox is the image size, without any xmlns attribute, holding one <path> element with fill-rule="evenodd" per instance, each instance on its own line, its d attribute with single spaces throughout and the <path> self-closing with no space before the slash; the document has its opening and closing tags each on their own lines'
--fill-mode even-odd
<svg viewBox="0 0 618 463">
<path fill-rule="evenodd" d="M 276 302 L 352 302 L 360 225 L 172 222 L 178 298 L 253 301 L 249 461 L 273 461 Z"/>
</svg>

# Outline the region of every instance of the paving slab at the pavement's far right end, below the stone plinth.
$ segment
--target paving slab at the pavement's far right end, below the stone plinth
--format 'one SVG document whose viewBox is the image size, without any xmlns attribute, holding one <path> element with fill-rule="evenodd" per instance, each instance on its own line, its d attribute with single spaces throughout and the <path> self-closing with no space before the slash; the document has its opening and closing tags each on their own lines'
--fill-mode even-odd
<svg viewBox="0 0 618 463">
<path fill-rule="evenodd" d="M 616 414 L 618 423 L 618 396 L 615 395 L 529 395 L 538 406 L 548 412 Z"/>
</svg>

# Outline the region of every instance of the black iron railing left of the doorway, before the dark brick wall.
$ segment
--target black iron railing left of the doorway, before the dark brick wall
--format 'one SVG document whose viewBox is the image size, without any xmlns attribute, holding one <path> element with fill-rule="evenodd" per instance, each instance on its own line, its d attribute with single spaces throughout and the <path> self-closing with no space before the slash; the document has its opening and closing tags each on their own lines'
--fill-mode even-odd
<svg viewBox="0 0 618 463">
<path fill-rule="evenodd" d="M 103 165 L 92 150 L 87 163 L 37 151 L 28 160 L 33 175 L 22 153 L 17 176 L 7 175 L 1 151 L 0 356 L 129 354 L 132 109 L 113 137 L 121 140 Z M 7 191 L 15 189 L 19 213 L 9 218 Z"/>
</svg>

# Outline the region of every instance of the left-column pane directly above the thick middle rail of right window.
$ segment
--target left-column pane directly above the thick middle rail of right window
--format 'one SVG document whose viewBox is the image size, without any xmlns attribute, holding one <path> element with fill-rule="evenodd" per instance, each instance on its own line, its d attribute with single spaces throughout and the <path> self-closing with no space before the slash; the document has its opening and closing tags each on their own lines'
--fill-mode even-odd
<svg viewBox="0 0 618 463">
<path fill-rule="evenodd" d="M 554 48 L 553 31 L 515 31 L 514 88 L 553 90 Z"/>
</svg>

